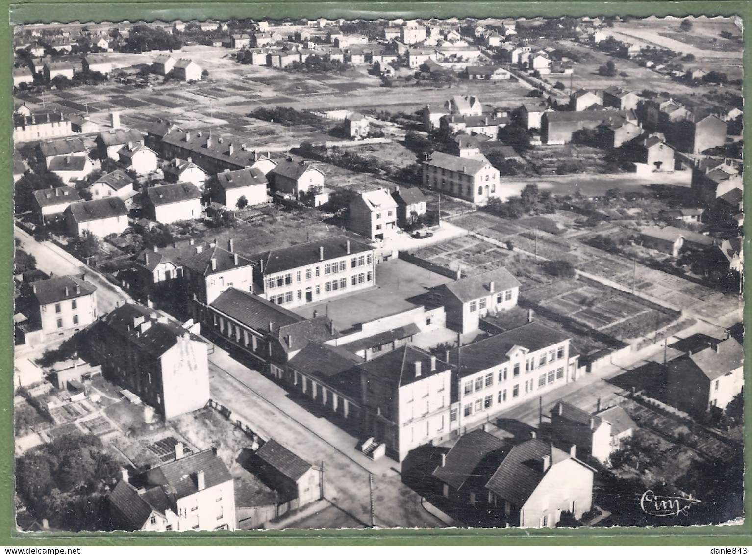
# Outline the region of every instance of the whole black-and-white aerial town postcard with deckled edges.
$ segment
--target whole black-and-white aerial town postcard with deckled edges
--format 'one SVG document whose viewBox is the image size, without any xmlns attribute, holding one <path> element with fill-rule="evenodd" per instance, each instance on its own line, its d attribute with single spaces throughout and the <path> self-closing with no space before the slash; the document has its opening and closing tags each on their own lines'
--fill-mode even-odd
<svg viewBox="0 0 752 555">
<path fill-rule="evenodd" d="M 20 532 L 743 522 L 741 17 L 502 15 L 14 26 Z"/>
</svg>

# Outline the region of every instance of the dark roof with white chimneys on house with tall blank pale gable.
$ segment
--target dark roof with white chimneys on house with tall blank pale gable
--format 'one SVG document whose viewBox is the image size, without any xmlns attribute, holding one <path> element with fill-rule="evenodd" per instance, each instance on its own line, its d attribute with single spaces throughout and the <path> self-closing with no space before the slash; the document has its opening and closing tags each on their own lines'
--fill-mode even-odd
<svg viewBox="0 0 752 555">
<path fill-rule="evenodd" d="M 144 327 L 141 325 L 144 322 L 150 322 L 150 325 Z M 102 317 L 100 325 L 105 327 L 105 334 L 126 337 L 137 349 L 153 358 L 162 356 L 181 338 L 204 341 L 156 310 L 136 303 L 118 306 Z"/>
</svg>

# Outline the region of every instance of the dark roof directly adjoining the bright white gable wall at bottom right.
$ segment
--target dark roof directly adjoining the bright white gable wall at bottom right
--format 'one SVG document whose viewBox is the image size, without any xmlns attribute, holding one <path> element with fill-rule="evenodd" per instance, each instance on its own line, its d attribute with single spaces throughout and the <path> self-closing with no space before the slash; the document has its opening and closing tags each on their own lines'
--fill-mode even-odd
<svg viewBox="0 0 752 555">
<path fill-rule="evenodd" d="M 515 507 L 523 507 L 544 477 L 544 456 L 550 456 L 547 471 L 556 463 L 570 458 L 569 453 L 551 444 L 531 439 L 511 448 L 488 480 L 486 488 Z"/>
</svg>

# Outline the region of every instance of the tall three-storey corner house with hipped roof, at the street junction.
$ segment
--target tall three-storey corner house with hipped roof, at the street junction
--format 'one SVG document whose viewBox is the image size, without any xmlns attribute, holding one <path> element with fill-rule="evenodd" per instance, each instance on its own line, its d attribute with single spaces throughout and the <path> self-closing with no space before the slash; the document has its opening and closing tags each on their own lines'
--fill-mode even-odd
<svg viewBox="0 0 752 555">
<path fill-rule="evenodd" d="M 360 365 L 363 432 L 402 462 L 420 445 L 448 437 L 451 367 L 403 346 Z"/>
</svg>

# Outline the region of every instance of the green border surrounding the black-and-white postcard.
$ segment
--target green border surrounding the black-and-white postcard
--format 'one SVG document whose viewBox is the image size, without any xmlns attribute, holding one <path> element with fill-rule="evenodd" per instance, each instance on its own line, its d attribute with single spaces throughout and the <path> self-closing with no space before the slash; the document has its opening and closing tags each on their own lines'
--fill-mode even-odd
<svg viewBox="0 0 752 555">
<path fill-rule="evenodd" d="M 417 17 L 546 17 L 629 15 L 662 17 L 673 15 L 739 15 L 746 23 L 744 29 L 744 90 L 752 87 L 750 69 L 750 26 L 752 26 L 752 2 L 205 2 L 200 5 L 186 2 L 129 2 L 108 4 L 105 2 L 50 2 L 50 0 L 15 3 L 0 0 L 8 8 L 9 22 L 0 26 L 0 98 L 5 110 L 0 115 L 0 138 L 5 148 L 0 148 L 0 171 L 7 176 L 3 181 L 3 194 L 0 195 L 0 221 L 5 224 L 0 230 L 0 273 L 6 276 L 0 279 L 0 311 L 7 317 L 0 324 L 0 446 L 5 447 L 0 453 L 0 544 L 29 546 L 147 546 L 147 545 L 495 545 L 508 546 L 577 546 L 577 545 L 707 545 L 707 546 L 741 546 L 752 544 L 752 501 L 744 496 L 744 512 L 747 522 L 741 526 L 692 526 L 662 527 L 650 529 L 611 528 L 611 529 L 555 529 L 555 530 L 520 530 L 520 529 L 371 529 L 359 530 L 324 530 L 324 531 L 285 531 L 285 532 L 234 532 L 218 534 L 186 533 L 162 535 L 117 534 L 53 534 L 22 535 L 14 527 L 14 425 L 11 407 L 13 406 L 13 324 L 11 322 L 13 299 L 13 211 L 11 176 L 12 137 L 11 114 L 13 99 L 11 96 L 11 67 L 13 51 L 11 48 L 12 25 L 15 23 L 42 22 L 99 22 L 119 20 L 226 20 L 230 17 L 344 17 L 353 19 L 417 18 Z M 745 93 L 745 99 L 749 95 Z M 748 143 L 752 136 L 750 113 L 744 113 L 744 139 Z M 745 159 L 745 184 L 749 181 L 750 166 L 748 156 Z M 744 208 L 752 208 L 752 201 L 745 195 Z M 752 220 L 747 218 L 746 236 L 750 236 Z M 745 249 L 747 249 L 745 241 Z M 747 249 L 748 251 L 748 249 Z M 750 253 L 747 252 L 747 259 Z M 745 298 L 752 290 L 752 284 L 745 284 Z M 747 322 L 750 306 L 744 311 Z M 3 333 L 2 331 L 5 331 Z M 748 353 L 749 340 L 745 337 L 745 353 Z M 747 355 L 748 357 L 748 355 Z M 747 358 L 748 360 L 749 358 Z M 745 368 L 747 379 L 749 365 Z M 752 393 L 750 386 L 745 390 L 745 419 L 750 422 L 750 404 Z M 747 425 L 745 445 L 752 445 L 752 428 Z M 746 472 L 745 491 L 749 491 L 750 468 L 752 456 L 745 450 Z"/>
</svg>

